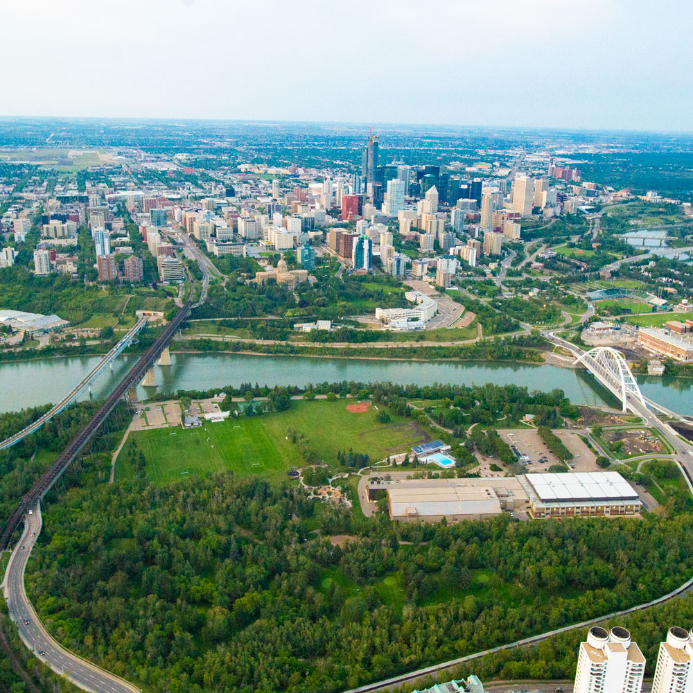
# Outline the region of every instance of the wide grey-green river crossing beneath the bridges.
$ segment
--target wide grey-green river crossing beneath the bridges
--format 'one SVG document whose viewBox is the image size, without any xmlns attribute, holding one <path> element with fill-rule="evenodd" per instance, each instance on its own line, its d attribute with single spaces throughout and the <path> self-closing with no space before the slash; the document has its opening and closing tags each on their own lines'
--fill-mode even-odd
<svg viewBox="0 0 693 693">
<path fill-rule="evenodd" d="M 0 365 L 0 412 L 60 401 L 96 363 L 98 356 L 65 356 Z M 105 396 L 134 365 L 137 357 L 121 356 L 111 371 L 94 383 L 92 395 Z M 206 390 L 241 383 L 306 385 L 356 380 L 374 383 L 426 385 L 515 384 L 534 389 L 559 387 L 574 404 L 603 405 L 603 392 L 584 371 L 550 365 L 475 361 L 389 361 L 358 358 L 308 358 L 305 356 L 255 356 L 246 354 L 172 354 L 170 367 L 155 367 L 157 386 L 163 392 L 177 389 Z M 638 377 L 642 393 L 680 414 L 693 414 L 693 380 Z M 139 398 L 152 396 L 150 387 L 138 387 Z M 85 393 L 84 398 L 89 394 Z"/>
</svg>

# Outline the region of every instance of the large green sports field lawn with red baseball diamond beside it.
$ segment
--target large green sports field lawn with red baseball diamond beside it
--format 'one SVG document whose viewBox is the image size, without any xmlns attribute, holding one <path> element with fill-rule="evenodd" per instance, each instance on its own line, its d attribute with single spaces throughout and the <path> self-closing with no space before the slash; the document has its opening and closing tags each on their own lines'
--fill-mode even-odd
<svg viewBox="0 0 693 693">
<path fill-rule="evenodd" d="M 337 468 L 337 451 L 367 453 L 373 462 L 402 452 L 423 440 L 411 419 L 392 415 L 378 423 L 375 407 L 365 414 L 347 412 L 347 401 L 292 402 L 288 412 L 229 418 L 201 428 L 157 428 L 132 432 L 116 462 L 120 478 L 132 473 L 128 450 L 137 445 L 146 458 L 150 478 L 159 484 L 188 475 L 230 470 L 272 481 L 287 480 L 286 471 L 303 466 L 297 445 L 286 437 L 292 428 L 303 433 L 321 462 Z"/>
</svg>

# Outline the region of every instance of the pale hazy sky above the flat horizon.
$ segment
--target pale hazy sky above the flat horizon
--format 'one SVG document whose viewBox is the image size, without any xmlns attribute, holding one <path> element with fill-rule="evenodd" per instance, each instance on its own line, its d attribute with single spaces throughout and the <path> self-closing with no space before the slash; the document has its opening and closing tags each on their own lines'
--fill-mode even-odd
<svg viewBox="0 0 693 693">
<path fill-rule="evenodd" d="M 690 0 L 1 0 L 0 115 L 693 129 Z"/>
</svg>

